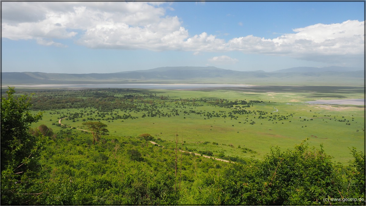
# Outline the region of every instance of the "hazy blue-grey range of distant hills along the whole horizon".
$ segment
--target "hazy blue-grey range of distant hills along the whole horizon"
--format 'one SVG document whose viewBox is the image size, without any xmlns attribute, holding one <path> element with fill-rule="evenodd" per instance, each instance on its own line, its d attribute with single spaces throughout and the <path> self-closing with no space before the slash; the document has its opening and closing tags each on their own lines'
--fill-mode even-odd
<svg viewBox="0 0 366 206">
<path fill-rule="evenodd" d="M 3 72 L 1 84 L 222 83 L 363 85 L 364 71 L 347 67 L 294 67 L 273 72 L 234 71 L 217 67 L 159 67 L 118 73 L 60 74 Z"/>
</svg>

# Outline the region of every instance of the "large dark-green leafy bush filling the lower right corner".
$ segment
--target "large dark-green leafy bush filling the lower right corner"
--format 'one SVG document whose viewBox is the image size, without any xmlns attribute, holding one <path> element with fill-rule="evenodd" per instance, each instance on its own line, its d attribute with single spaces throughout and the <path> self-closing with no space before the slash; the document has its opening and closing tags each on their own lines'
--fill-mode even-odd
<svg viewBox="0 0 366 206">
<path fill-rule="evenodd" d="M 356 159 L 364 157 L 355 150 L 354 154 Z M 365 187 L 362 189 L 361 187 L 365 185 L 365 176 L 344 173 L 344 168 L 335 166 L 330 156 L 324 153 L 322 146 L 320 150 L 315 148 L 310 150 L 305 141 L 295 146 L 295 150 L 281 152 L 280 148 L 273 148 L 264 161 L 249 165 L 235 164 L 226 170 L 225 174 L 227 179 L 219 183 L 223 191 L 219 203 L 224 205 L 353 205 L 355 203 L 362 205 L 365 203 L 364 201 L 331 202 L 326 199 L 329 197 L 364 198 Z M 348 182 L 349 178 L 357 179 L 354 183 L 360 181 L 361 184 L 347 187 L 345 182 Z"/>
</svg>

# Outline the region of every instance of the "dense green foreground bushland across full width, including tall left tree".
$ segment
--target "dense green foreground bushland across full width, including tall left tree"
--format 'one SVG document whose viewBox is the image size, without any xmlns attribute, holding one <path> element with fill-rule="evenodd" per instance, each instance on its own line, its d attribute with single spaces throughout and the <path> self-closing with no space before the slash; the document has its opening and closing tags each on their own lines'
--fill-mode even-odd
<svg viewBox="0 0 366 206">
<path fill-rule="evenodd" d="M 9 154 L 1 157 L 2 205 L 365 205 L 365 154 L 355 148 L 348 165 L 306 140 L 227 163 L 179 151 L 181 139 L 148 136 L 162 147 L 146 144 L 147 134 L 110 134 L 93 145 L 89 132 L 29 130 L 41 117 L 29 106 L 12 89 L 1 101 L 1 152 Z"/>
</svg>

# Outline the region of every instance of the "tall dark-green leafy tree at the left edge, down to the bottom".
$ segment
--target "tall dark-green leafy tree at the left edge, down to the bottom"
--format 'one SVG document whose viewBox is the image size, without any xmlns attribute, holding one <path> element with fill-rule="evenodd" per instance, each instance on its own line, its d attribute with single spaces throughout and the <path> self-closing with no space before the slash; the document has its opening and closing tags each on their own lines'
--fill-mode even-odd
<svg viewBox="0 0 366 206">
<path fill-rule="evenodd" d="M 30 124 L 42 118 L 41 113 L 30 113 L 30 97 L 16 96 L 11 87 L 6 93 L 7 97 L 1 98 L 1 203 L 23 205 L 31 202 L 30 194 L 38 193 L 32 187 L 46 138 L 29 133 Z"/>
</svg>

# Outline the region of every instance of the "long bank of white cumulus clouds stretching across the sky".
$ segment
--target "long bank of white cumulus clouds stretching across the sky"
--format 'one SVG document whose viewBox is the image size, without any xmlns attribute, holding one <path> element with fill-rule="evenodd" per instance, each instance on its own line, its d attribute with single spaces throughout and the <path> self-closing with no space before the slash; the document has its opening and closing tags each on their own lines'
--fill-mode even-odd
<svg viewBox="0 0 366 206">
<path fill-rule="evenodd" d="M 249 35 L 224 40 L 204 31 L 189 34 L 178 16 L 166 15 L 165 10 L 173 8 L 161 2 L 3 2 L 2 6 L 2 37 L 49 46 L 64 46 L 57 39 L 74 39 L 89 48 L 240 51 L 322 62 L 364 55 L 364 22 L 357 20 L 309 25 L 273 39 Z"/>
</svg>

